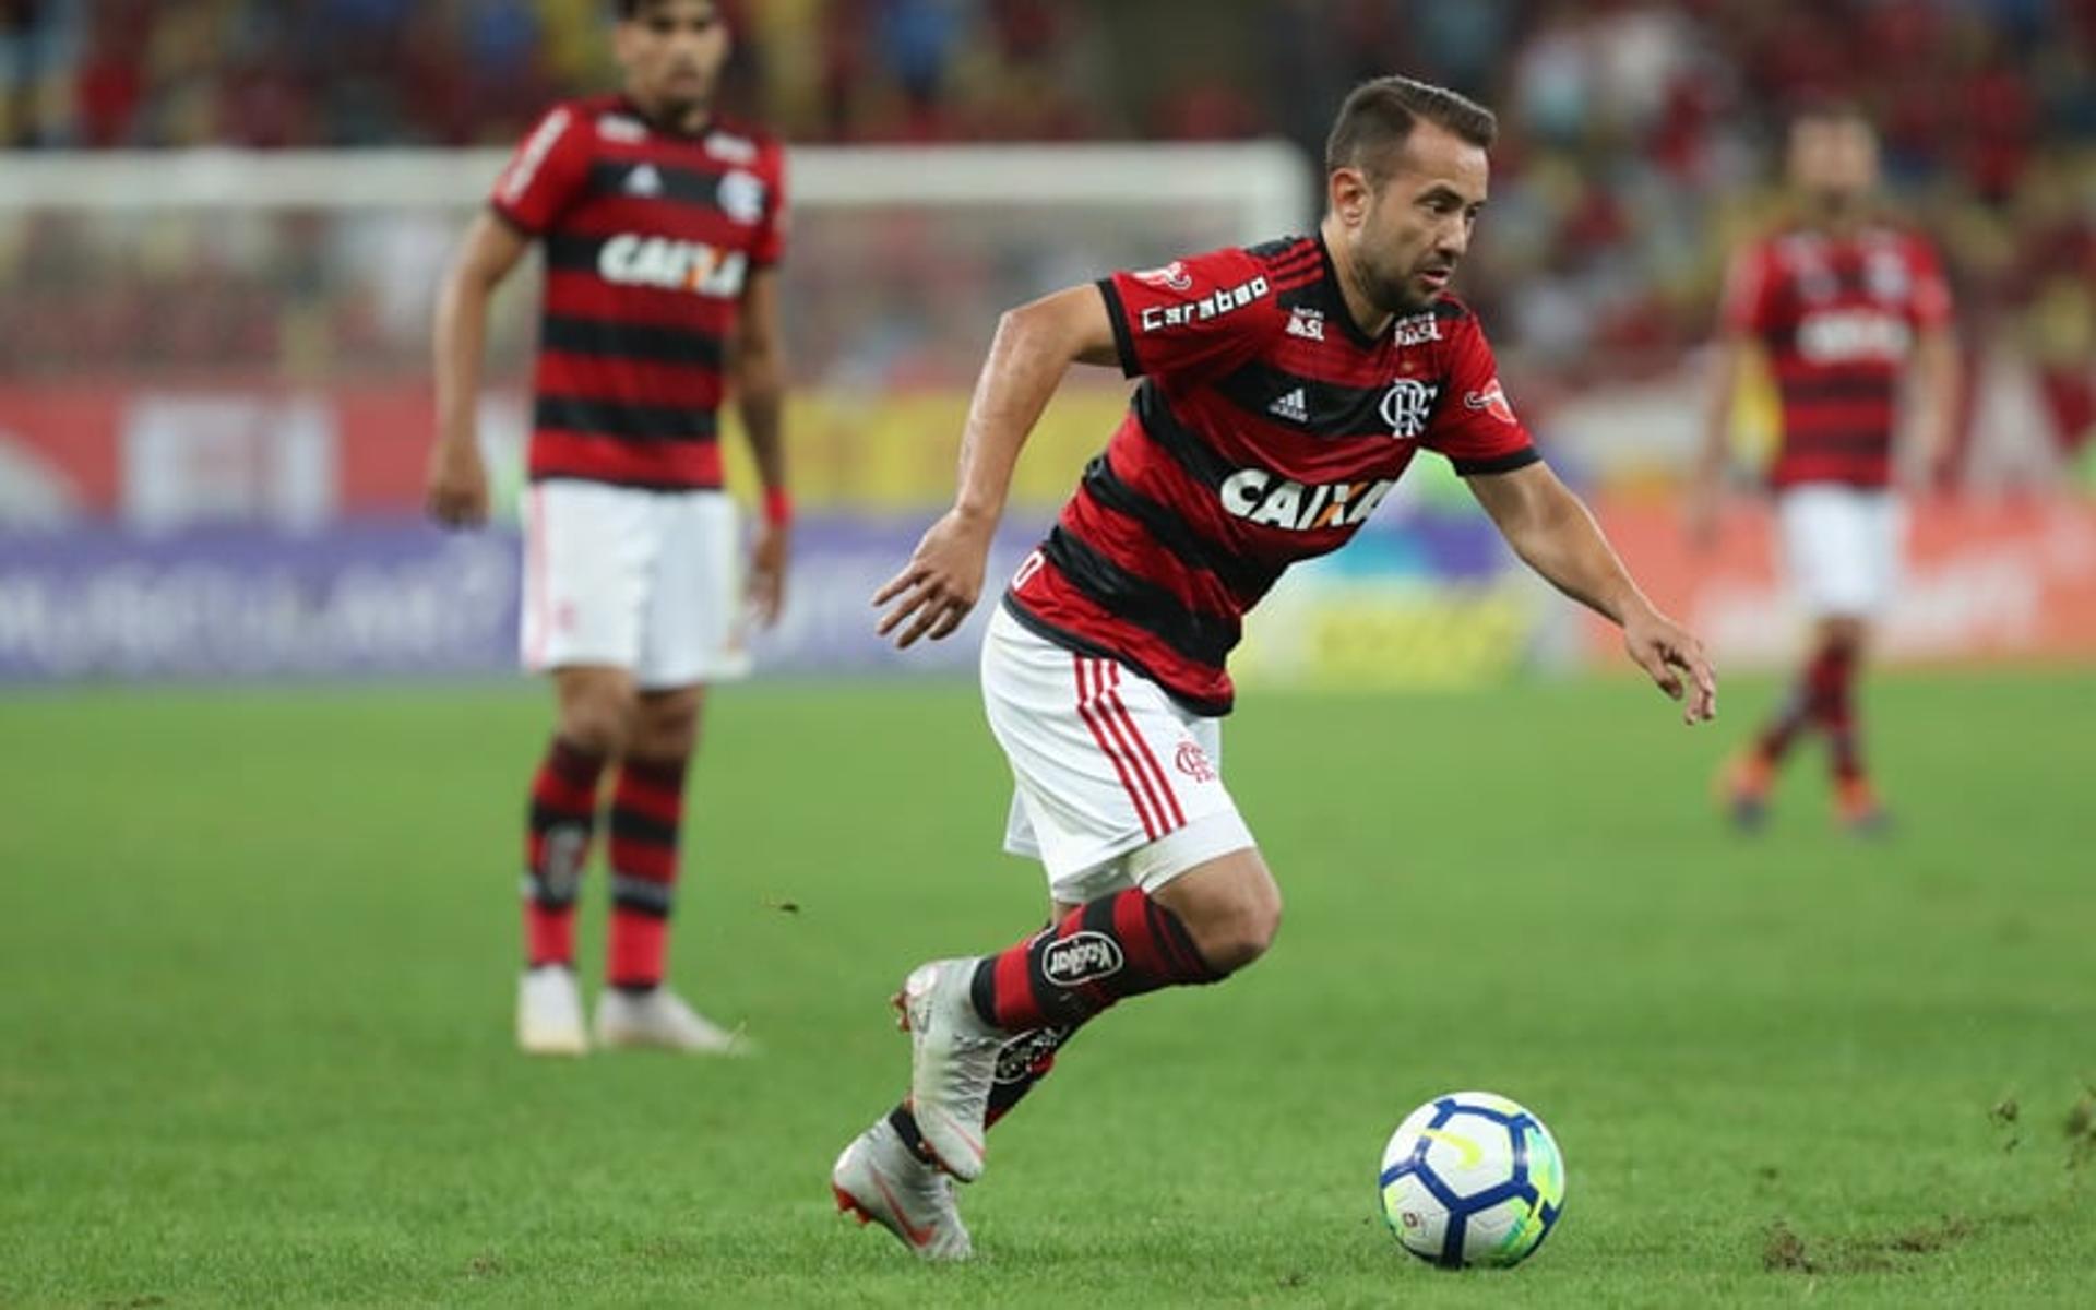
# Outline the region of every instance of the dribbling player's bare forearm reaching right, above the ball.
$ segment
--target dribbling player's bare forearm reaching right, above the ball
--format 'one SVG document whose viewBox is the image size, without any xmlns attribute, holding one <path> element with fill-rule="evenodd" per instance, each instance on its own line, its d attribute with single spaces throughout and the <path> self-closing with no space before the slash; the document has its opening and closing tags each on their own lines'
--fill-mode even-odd
<svg viewBox="0 0 2096 1310">
<path fill-rule="evenodd" d="M 1471 495 L 1499 524 L 1507 545 L 1553 587 L 1622 627 L 1629 656 L 1662 692 L 1685 706 L 1681 719 L 1717 715 L 1717 675 L 1702 641 L 1660 614 L 1637 589 L 1587 505 L 1547 463 L 1467 478 Z M 1687 681 L 1683 681 L 1687 675 Z"/>
</svg>

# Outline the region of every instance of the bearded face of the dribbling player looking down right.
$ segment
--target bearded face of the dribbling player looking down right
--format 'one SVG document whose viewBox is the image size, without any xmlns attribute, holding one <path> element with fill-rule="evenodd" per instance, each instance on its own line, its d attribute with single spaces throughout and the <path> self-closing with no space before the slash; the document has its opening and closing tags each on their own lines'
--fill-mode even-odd
<svg viewBox="0 0 2096 1310">
<path fill-rule="evenodd" d="M 1335 195 L 1354 237 L 1362 291 L 1392 314 L 1432 306 L 1469 249 L 1488 182 L 1482 147 L 1419 122 L 1392 174 L 1367 195 L 1358 220 L 1348 218 L 1348 205 Z"/>
</svg>

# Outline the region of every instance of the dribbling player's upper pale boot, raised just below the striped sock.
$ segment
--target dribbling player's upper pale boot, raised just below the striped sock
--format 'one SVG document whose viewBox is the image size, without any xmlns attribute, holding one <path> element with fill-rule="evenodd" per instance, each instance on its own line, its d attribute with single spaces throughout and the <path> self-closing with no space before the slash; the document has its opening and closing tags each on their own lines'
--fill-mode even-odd
<svg viewBox="0 0 2096 1310">
<path fill-rule="evenodd" d="M 910 1111 L 924 1149 L 962 1182 L 983 1176 L 983 1115 L 1004 1033 L 975 1012 L 977 960 L 918 964 L 895 998 L 910 1029 Z"/>
</svg>

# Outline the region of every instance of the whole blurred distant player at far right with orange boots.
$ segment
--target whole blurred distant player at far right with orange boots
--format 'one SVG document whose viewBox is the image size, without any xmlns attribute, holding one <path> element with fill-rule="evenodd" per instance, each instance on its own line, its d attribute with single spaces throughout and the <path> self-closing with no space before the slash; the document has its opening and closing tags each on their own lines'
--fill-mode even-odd
<svg viewBox="0 0 2096 1310">
<path fill-rule="evenodd" d="M 1891 599 L 1901 553 L 1903 470 L 1935 480 L 1951 453 L 1958 348 L 1937 256 L 1872 208 L 1878 136 L 1851 109 L 1790 126 L 1794 224 L 1733 260 L 1710 386 L 1702 461 L 1689 501 L 1698 543 L 1717 534 L 1733 400 L 1756 365 L 1773 375 L 1782 444 L 1769 482 L 1792 587 L 1813 620 L 1798 681 L 1761 736 L 1725 767 L 1731 817 L 1756 828 L 1790 746 L 1828 738 L 1836 815 L 1855 832 L 1884 826 L 1863 769 L 1855 681 L 1872 618 Z M 1899 386 L 1914 365 L 1918 457 L 1899 459 Z"/>
</svg>

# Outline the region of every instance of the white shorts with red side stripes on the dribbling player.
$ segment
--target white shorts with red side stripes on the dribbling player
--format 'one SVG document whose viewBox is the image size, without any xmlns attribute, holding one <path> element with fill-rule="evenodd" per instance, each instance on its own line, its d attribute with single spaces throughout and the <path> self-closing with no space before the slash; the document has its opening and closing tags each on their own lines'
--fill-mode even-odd
<svg viewBox="0 0 2096 1310">
<path fill-rule="evenodd" d="M 1017 784 L 1004 849 L 1040 859 L 1056 901 L 1155 891 L 1253 845 L 1222 786 L 1222 721 L 1038 637 L 1002 604 L 983 635 L 983 706 Z"/>
</svg>

